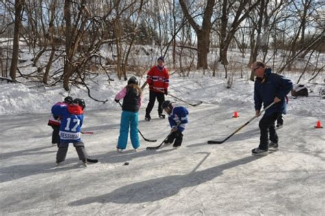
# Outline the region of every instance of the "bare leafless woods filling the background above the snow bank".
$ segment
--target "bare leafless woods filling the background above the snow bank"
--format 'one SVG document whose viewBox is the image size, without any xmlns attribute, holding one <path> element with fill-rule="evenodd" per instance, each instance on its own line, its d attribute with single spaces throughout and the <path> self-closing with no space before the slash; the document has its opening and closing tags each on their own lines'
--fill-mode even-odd
<svg viewBox="0 0 325 216">
<path fill-rule="evenodd" d="M 273 61 L 277 73 L 294 69 L 300 58 L 301 77 L 311 69 L 320 74 L 322 59 L 313 62 L 324 51 L 324 5 L 312 0 L 0 1 L 1 74 L 62 82 L 68 91 L 71 84 L 87 86 L 88 77 L 101 71 L 108 74 L 108 68 L 119 79 L 126 80 L 130 71 L 143 75 L 158 55 L 172 60 L 167 64 L 182 75 L 189 75 L 195 62 L 215 75 L 221 62 L 229 77 L 232 64 L 250 66 L 257 58 Z M 19 38 L 25 40 L 21 47 Z M 228 64 L 233 48 L 242 59 Z M 19 58 L 26 49 L 34 55 L 28 66 Z M 104 67 L 101 60 L 108 58 Z M 54 62 L 60 65 L 55 71 Z M 37 69 L 19 71 L 23 67 Z"/>
</svg>

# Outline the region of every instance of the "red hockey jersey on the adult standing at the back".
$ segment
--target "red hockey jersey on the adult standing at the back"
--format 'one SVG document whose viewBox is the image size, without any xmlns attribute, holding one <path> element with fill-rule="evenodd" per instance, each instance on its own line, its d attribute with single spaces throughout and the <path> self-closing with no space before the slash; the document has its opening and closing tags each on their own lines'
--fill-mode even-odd
<svg viewBox="0 0 325 216">
<path fill-rule="evenodd" d="M 165 92 L 169 86 L 169 73 L 165 67 L 159 70 L 157 66 L 152 67 L 147 73 L 147 83 L 152 91 Z"/>
</svg>

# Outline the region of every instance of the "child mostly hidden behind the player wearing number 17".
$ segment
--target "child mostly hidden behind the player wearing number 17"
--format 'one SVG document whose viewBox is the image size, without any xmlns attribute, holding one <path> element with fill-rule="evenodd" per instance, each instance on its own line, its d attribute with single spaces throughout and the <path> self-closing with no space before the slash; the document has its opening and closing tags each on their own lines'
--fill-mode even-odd
<svg viewBox="0 0 325 216">
<path fill-rule="evenodd" d="M 67 104 L 72 104 L 73 98 L 68 96 L 64 98 L 63 102 L 58 102 L 54 106 L 62 105 L 67 106 Z M 51 117 L 49 118 L 49 121 L 47 122 L 47 125 L 51 126 L 53 128 L 52 132 L 52 144 L 60 145 L 60 124 L 61 124 L 61 118 L 58 116 L 54 116 L 51 114 Z"/>
</svg>

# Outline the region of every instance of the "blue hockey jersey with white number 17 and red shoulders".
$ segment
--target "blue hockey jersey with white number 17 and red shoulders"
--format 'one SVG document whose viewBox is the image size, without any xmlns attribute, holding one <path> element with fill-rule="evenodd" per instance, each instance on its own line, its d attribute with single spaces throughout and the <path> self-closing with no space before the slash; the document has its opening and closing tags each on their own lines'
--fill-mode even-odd
<svg viewBox="0 0 325 216">
<path fill-rule="evenodd" d="M 52 108 L 55 116 L 61 117 L 60 125 L 60 142 L 61 143 L 77 143 L 81 141 L 81 127 L 84 121 L 83 110 L 81 106 L 67 105 L 56 106 Z"/>
</svg>

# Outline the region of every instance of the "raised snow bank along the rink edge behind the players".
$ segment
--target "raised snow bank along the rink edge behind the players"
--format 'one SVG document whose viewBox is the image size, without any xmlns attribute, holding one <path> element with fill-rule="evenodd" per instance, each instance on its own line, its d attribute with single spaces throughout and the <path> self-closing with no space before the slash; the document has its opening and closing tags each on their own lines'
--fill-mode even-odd
<svg viewBox="0 0 325 216">
<path fill-rule="evenodd" d="M 99 109 L 119 109 L 114 101 L 118 91 L 127 84 L 123 80 L 118 80 L 115 75 L 111 76 L 114 82 L 108 83 L 106 75 L 100 75 L 94 82 L 88 82 L 91 88 L 91 95 L 96 99 L 105 101 L 105 104 L 94 101 L 88 97 L 86 88 L 83 86 L 73 86 L 70 92 L 72 97 L 84 98 L 87 110 Z M 294 82 L 298 76 L 290 77 Z M 321 80 L 321 78 L 320 78 Z M 143 83 L 145 80 L 140 80 Z M 225 108 L 240 109 L 243 105 L 250 105 L 254 109 L 253 93 L 254 82 L 250 82 L 240 77 L 234 77 L 232 88 L 226 88 L 226 79 L 218 75 L 202 75 L 200 71 L 193 72 L 189 77 L 171 75 L 169 93 L 180 97 L 189 102 L 201 100 L 206 104 L 217 104 Z M 322 85 L 309 84 L 313 88 L 313 93 L 317 95 Z M 12 115 L 19 113 L 47 113 L 51 106 L 57 101 L 62 101 L 67 97 L 68 92 L 62 86 L 44 87 L 27 86 L 25 84 L 0 84 L 0 115 Z M 143 104 L 146 106 L 148 101 L 148 90 L 145 88 Z M 168 99 L 177 101 L 173 97 Z M 324 117 L 325 100 L 321 97 L 299 97 L 292 99 L 289 97 L 288 110 L 296 115 Z"/>
</svg>

